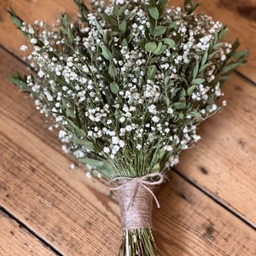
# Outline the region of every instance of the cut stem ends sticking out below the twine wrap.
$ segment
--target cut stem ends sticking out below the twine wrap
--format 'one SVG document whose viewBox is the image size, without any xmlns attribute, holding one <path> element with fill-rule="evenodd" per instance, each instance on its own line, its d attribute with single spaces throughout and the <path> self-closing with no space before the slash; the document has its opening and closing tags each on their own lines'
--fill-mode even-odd
<svg viewBox="0 0 256 256">
<path fill-rule="evenodd" d="M 124 230 L 118 256 L 158 256 L 151 229 Z"/>
</svg>

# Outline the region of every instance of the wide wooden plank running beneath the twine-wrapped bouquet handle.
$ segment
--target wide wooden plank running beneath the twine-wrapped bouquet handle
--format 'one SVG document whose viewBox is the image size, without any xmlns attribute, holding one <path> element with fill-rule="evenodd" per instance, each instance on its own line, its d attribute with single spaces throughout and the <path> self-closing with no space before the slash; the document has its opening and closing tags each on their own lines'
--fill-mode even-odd
<svg viewBox="0 0 256 256">
<path fill-rule="evenodd" d="M 22 68 L 2 51 L 3 60 L 8 61 L 1 63 L 2 77 L 14 65 Z M 41 128 L 32 125 L 40 122 L 38 113 L 15 86 L 3 80 L 0 95 L 9 101 L 0 102 L 0 205 L 63 254 L 115 255 L 119 209 L 107 186 L 88 185 L 82 170 L 69 170 L 71 161 L 44 140 L 53 136 L 44 119 Z M 10 106 L 17 104 L 14 113 Z M 20 116 L 37 131 L 22 125 Z M 255 255 L 254 230 L 175 173 L 157 196 L 161 208 L 154 210 L 154 234 L 160 255 Z"/>
</svg>

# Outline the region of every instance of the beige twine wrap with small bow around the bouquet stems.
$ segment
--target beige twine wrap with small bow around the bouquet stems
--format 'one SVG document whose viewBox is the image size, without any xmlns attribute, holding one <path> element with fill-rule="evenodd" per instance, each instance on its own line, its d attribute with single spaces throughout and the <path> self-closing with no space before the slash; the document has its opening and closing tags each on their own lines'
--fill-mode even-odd
<svg viewBox="0 0 256 256">
<path fill-rule="evenodd" d="M 153 191 L 164 182 L 164 177 L 162 173 L 149 173 L 143 177 L 113 178 L 113 182 L 118 183 L 111 190 L 118 194 L 122 230 L 152 227 L 153 199 L 160 207 Z"/>
</svg>

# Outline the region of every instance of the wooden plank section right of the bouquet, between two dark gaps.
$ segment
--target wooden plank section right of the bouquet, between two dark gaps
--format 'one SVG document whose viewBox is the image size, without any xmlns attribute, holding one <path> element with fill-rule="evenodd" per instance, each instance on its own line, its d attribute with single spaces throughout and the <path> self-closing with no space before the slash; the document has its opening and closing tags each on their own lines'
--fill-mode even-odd
<svg viewBox="0 0 256 256">
<path fill-rule="evenodd" d="M 201 125 L 177 170 L 256 228 L 256 88 L 233 75 L 224 93 L 227 107 Z"/>
</svg>

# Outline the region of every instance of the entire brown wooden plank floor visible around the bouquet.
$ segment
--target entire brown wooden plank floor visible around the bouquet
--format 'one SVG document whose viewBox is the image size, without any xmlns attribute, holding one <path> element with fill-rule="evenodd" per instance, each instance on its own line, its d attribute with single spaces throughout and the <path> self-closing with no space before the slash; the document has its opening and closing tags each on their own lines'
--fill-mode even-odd
<svg viewBox="0 0 256 256">
<path fill-rule="evenodd" d="M 228 106 L 201 125 L 201 142 L 157 191 L 154 236 L 161 256 L 255 256 L 256 1 L 201 2 L 251 55 L 225 84 Z M 76 14 L 72 0 L 0 1 L 0 255 L 114 256 L 119 207 L 108 185 L 70 170 L 44 116 L 6 79 L 27 73 L 10 5 L 28 22 Z"/>
</svg>

